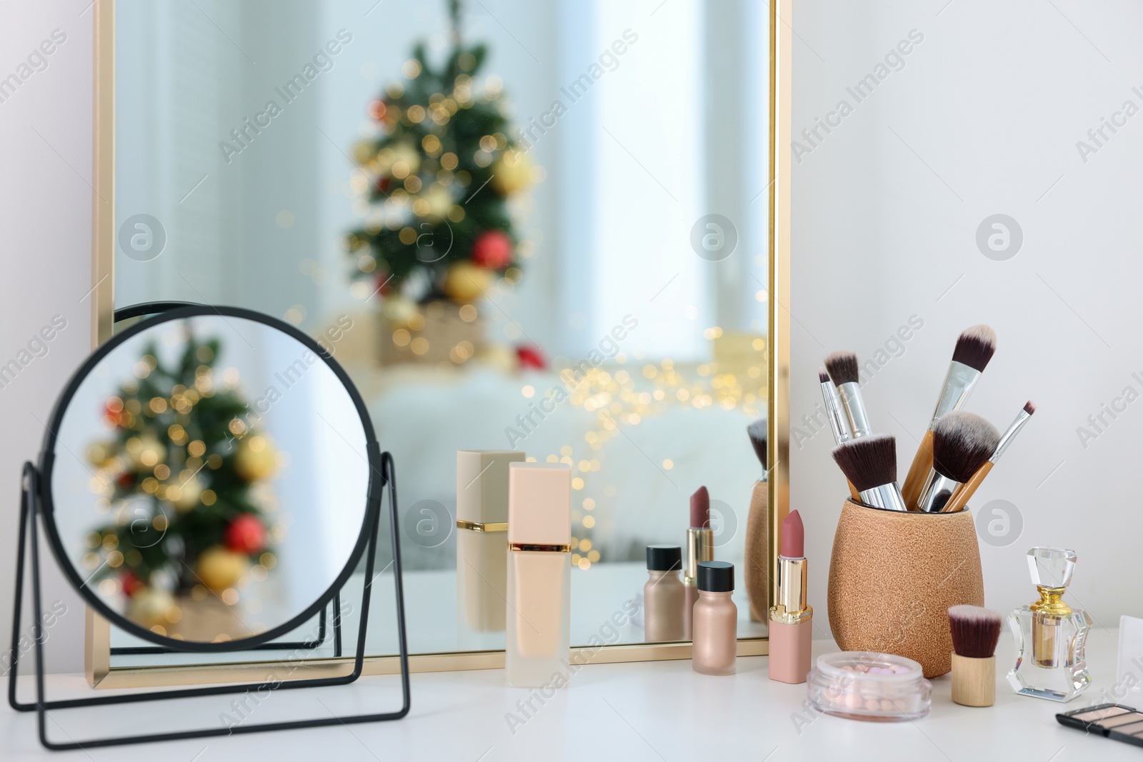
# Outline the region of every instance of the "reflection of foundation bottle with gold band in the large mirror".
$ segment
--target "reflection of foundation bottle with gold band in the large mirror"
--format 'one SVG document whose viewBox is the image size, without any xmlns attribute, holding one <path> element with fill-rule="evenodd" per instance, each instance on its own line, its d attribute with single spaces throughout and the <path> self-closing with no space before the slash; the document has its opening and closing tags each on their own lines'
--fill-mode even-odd
<svg viewBox="0 0 1143 762">
<path fill-rule="evenodd" d="M 472 632 L 504 632 L 507 466 L 518 462 L 523 452 L 456 452 L 456 620 Z"/>
</svg>

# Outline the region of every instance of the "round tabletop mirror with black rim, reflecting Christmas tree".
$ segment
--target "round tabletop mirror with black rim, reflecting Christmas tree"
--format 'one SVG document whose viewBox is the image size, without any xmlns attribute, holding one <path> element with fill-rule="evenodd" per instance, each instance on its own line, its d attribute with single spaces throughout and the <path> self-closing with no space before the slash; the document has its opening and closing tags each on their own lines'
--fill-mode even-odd
<svg viewBox="0 0 1143 762">
<path fill-rule="evenodd" d="M 373 431 L 342 368 L 291 326 L 233 307 L 150 318 L 99 347 L 53 411 L 49 542 L 87 601 L 139 637 L 270 641 L 361 558 Z"/>
</svg>

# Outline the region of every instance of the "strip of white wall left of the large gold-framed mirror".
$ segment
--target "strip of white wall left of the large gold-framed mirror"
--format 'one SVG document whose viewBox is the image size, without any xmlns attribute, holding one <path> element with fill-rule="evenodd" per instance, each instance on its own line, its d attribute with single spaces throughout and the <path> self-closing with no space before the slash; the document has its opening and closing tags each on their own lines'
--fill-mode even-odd
<svg viewBox="0 0 1143 762">
<path fill-rule="evenodd" d="M 0 387 L 0 633 L 7 652 L 19 470 L 35 460 L 56 394 L 90 350 L 91 10 L 88 0 L 5 3 L 0 79 L 59 30 L 66 40 L 0 102 L 0 364 L 55 315 L 66 327 Z M 82 13 L 81 13 L 82 11 Z M 24 359 L 32 356 L 31 353 Z M 5 377 L 7 380 L 7 377 Z M 67 612 L 48 631 L 50 668 L 82 668 L 83 607 L 48 559 L 43 603 Z M 25 618 L 26 623 L 27 619 Z M 26 631 L 26 628 L 25 628 Z M 51 644 L 64 644 L 63 650 Z M 59 658 L 56 658 L 58 655 Z M 7 658 L 0 674 L 7 674 Z"/>
</svg>

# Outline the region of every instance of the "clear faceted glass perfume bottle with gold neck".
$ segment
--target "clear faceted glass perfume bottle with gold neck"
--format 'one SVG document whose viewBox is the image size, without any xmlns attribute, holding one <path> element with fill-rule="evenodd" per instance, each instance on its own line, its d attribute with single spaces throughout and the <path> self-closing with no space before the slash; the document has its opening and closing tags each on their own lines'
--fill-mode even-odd
<svg viewBox="0 0 1143 762">
<path fill-rule="evenodd" d="M 1087 611 L 1063 600 L 1076 569 L 1076 552 L 1033 547 L 1028 568 L 1040 600 L 1008 615 L 1016 637 L 1016 664 L 1008 683 L 1017 693 L 1070 701 L 1092 683 L 1084 647 L 1092 628 Z"/>
</svg>

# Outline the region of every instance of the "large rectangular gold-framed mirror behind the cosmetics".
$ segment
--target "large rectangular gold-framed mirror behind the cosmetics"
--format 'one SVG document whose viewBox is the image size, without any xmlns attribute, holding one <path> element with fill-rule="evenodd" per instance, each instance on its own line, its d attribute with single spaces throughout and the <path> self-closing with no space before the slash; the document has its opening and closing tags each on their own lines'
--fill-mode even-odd
<svg viewBox="0 0 1143 762">
<path fill-rule="evenodd" d="M 395 459 L 415 669 L 503 661 L 503 628 L 471 626 L 457 604 L 458 450 L 572 466 L 572 645 L 614 647 L 597 660 L 689 653 L 647 642 L 640 599 L 646 546 L 686 551 L 701 486 L 716 558 L 741 569 L 768 471 L 759 526 L 774 537 L 780 10 L 99 3 L 97 171 L 114 204 L 97 219 L 96 273 L 113 270 L 114 308 L 257 310 L 334 353 Z M 274 385 L 246 390 L 250 403 Z M 761 418 L 765 464 L 746 433 Z M 764 653 L 744 577 L 740 652 Z M 367 649 L 377 664 L 393 653 L 383 637 Z"/>
</svg>

